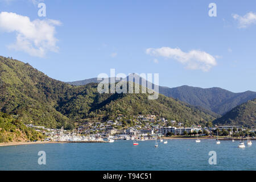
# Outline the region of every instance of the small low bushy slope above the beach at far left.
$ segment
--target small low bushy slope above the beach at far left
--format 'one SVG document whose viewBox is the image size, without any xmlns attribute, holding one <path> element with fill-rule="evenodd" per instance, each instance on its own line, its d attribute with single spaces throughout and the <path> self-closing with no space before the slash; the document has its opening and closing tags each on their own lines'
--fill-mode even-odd
<svg viewBox="0 0 256 182">
<path fill-rule="evenodd" d="M 44 136 L 11 115 L 0 112 L 0 143 L 39 140 Z"/>
</svg>

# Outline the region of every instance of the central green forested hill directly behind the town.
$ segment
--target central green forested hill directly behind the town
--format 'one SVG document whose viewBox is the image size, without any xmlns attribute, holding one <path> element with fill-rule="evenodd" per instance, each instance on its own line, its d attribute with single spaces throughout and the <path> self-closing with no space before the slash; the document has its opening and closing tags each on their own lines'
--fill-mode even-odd
<svg viewBox="0 0 256 182">
<path fill-rule="evenodd" d="M 78 120 L 99 116 L 113 119 L 118 114 L 126 116 L 155 114 L 170 120 L 195 123 L 212 121 L 218 116 L 215 113 L 210 113 L 210 111 L 207 113 L 203 109 L 176 101 L 162 94 L 156 100 L 148 100 L 148 94 L 146 93 L 98 94 L 97 84 L 88 84 L 86 86 L 87 89 L 77 97 L 73 97 L 59 107 L 59 111 L 69 118 Z"/>
</svg>

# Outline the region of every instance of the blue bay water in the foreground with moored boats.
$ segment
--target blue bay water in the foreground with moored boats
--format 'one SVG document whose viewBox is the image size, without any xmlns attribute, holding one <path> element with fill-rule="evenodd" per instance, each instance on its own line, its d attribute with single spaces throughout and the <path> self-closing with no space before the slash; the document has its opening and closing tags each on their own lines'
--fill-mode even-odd
<svg viewBox="0 0 256 182">
<path fill-rule="evenodd" d="M 238 142 L 190 139 L 147 140 L 133 146 L 131 140 L 114 143 L 49 143 L 0 147 L 0 170 L 256 170 L 256 142 L 244 149 Z M 46 152 L 46 165 L 38 164 L 38 152 Z M 209 151 L 217 164 L 210 165 Z"/>
</svg>

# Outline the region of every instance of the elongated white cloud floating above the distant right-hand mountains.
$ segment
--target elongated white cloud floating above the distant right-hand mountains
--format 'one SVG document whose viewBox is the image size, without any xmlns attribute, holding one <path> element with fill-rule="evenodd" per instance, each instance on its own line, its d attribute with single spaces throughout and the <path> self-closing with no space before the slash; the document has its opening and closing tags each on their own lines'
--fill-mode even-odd
<svg viewBox="0 0 256 182">
<path fill-rule="evenodd" d="M 180 63 L 186 65 L 187 69 L 201 69 L 204 72 L 209 71 L 214 65 L 217 65 L 214 56 L 207 52 L 192 50 L 183 52 L 179 48 L 148 48 L 146 53 L 151 56 L 162 56 L 168 59 L 175 59 Z"/>
</svg>

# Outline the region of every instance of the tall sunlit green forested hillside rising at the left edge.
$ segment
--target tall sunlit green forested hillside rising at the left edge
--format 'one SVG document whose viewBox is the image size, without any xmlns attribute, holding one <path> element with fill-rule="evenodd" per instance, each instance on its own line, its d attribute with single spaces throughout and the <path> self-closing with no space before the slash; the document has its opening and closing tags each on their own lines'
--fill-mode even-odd
<svg viewBox="0 0 256 182">
<path fill-rule="evenodd" d="M 47 127 L 71 124 L 55 109 L 70 89 L 29 64 L 0 57 L 0 110 L 17 115 L 24 123 Z"/>
</svg>

